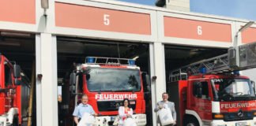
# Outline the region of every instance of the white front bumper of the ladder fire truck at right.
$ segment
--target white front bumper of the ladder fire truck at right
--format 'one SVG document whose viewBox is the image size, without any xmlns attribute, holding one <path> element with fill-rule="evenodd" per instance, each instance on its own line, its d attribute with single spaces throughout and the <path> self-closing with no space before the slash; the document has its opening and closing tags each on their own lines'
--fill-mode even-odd
<svg viewBox="0 0 256 126">
<path fill-rule="evenodd" d="M 235 120 L 235 121 L 224 121 L 224 120 L 213 120 L 212 126 L 256 126 L 256 117 L 253 120 Z"/>
</svg>

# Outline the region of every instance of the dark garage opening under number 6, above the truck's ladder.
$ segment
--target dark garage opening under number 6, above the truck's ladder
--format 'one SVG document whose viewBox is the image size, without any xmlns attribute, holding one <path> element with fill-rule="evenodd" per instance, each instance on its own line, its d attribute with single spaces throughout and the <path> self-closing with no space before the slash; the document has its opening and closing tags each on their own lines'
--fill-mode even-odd
<svg viewBox="0 0 256 126">
<path fill-rule="evenodd" d="M 165 45 L 164 53 L 165 69 L 168 76 L 168 72 L 171 70 L 178 69 L 179 67 L 189 65 L 196 61 L 227 54 L 228 49 Z M 166 82 L 168 82 L 168 77 Z"/>
</svg>

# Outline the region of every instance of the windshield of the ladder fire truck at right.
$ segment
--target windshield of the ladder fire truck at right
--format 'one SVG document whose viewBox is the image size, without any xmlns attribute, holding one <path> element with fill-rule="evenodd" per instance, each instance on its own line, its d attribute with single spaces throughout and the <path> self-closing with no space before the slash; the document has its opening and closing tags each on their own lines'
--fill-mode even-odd
<svg viewBox="0 0 256 126">
<path fill-rule="evenodd" d="M 246 79 L 213 79 L 213 95 L 216 101 L 254 100 L 254 88 Z"/>
</svg>

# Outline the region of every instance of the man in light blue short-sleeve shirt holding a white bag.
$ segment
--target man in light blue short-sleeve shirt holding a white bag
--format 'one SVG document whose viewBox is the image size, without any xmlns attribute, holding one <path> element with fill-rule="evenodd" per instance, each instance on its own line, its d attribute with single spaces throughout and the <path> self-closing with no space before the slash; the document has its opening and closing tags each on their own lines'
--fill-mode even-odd
<svg viewBox="0 0 256 126">
<path fill-rule="evenodd" d="M 93 116 L 97 116 L 95 111 L 92 109 L 92 106 L 88 105 L 88 96 L 83 95 L 81 98 L 81 103 L 76 106 L 76 108 L 73 110 L 73 120 L 76 124 L 78 124 L 78 120 L 83 117 L 84 113 L 90 113 Z"/>
</svg>

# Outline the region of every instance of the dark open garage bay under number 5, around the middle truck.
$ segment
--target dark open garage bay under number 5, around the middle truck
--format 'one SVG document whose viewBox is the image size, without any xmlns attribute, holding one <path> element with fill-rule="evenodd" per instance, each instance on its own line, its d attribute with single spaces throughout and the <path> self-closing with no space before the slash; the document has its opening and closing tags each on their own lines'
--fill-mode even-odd
<svg viewBox="0 0 256 126">
<path fill-rule="evenodd" d="M 148 43 L 130 43 L 103 39 L 57 37 L 57 50 L 58 95 L 59 97 L 62 97 L 62 100 L 58 101 L 58 125 L 73 125 L 72 114 L 74 106 L 70 105 L 70 102 L 73 102 L 71 99 L 75 96 L 66 93 L 66 91 L 70 91 L 70 85 L 66 85 L 67 82 L 65 83 L 65 81 L 67 81 L 66 78 L 69 78 L 73 65 L 85 64 L 85 57 L 118 57 L 136 59 L 135 64 L 140 67 L 141 72 L 149 73 Z M 147 89 L 144 87 L 144 90 L 146 91 Z M 119 91 L 119 93 L 120 92 L 122 91 Z M 151 105 L 149 104 L 149 96 L 150 92 L 148 94 L 145 93 L 146 105 Z M 118 104 L 119 103 L 117 102 L 115 103 L 116 107 L 120 106 Z M 96 106 L 93 107 L 93 109 L 98 111 L 100 108 L 97 108 Z M 151 106 L 146 106 L 145 109 L 147 109 L 146 113 L 149 113 L 147 114 L 148 124 L 151 124 L 151 119 L 149 119 L 152 117 Z M 113 116 L 113 113 L 111 115 Z"/>
</svg>

